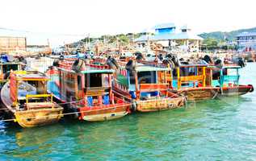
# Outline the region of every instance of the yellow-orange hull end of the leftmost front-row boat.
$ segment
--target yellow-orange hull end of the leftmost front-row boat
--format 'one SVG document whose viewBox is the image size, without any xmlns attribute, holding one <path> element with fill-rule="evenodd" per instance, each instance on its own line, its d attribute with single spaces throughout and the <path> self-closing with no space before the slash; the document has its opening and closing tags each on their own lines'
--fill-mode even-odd
<svg viewBox="0 0 256 161">
<path fill-rule="evenodd" d="M 62 108 L 32 109 L 15 112 L 15 120 L 22 127 L 45 126 L 58 122 L 62 117 Z"/>
</svg>

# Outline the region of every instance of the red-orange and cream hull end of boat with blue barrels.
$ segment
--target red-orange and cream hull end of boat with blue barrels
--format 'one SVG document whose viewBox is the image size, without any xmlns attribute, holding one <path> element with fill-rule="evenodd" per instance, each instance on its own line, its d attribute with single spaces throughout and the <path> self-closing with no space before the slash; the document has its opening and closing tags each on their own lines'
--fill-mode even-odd
<svg viewBox="0 0 256 161">
<path fill-rule="evenodd" d="M 122 118 L 130 113 L 130 104 L 103 105 L 102 107 L 83 107 L 79 108 L 79 119 L 88 122 L 99 122 Z"/>
</svg>

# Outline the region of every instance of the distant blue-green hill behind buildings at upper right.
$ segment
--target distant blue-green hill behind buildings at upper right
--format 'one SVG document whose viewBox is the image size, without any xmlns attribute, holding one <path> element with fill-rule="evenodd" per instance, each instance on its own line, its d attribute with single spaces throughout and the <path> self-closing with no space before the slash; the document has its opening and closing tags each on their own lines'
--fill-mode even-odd
<svg viewBox="0 0 256 161">
<path fill-rule="evenodd" d="M 213 38 L 217 40 L 224 40 L 224 39 L 233 40 L 236 38 L 236 35 L 242 32 L 256 32 L 256 27 L 248 28 L 248 29 L 240 29 L 240 30 L 230 31 L 230 32 L 221 32 L 221 31 L 209 32 L 209 33 L 200 34 L 199 36 L 201 36 L 204 39 Z"/>
</svg>

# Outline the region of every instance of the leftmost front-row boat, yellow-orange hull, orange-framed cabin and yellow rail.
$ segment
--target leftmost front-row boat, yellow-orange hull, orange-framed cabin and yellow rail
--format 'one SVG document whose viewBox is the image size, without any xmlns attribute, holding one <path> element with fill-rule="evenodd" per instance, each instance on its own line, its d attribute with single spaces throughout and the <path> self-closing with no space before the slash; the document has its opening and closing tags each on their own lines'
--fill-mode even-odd
<svg viewBox="0 0 256 161">
<path fill-rule="evenodd" d="M 44 126 L 58 122 L 63 108 L 47 93 L 49 78 L 41 72 L 10 72 L 2 87 L 1 100 L 6 114 L 22 127 Z"/>
</svg>

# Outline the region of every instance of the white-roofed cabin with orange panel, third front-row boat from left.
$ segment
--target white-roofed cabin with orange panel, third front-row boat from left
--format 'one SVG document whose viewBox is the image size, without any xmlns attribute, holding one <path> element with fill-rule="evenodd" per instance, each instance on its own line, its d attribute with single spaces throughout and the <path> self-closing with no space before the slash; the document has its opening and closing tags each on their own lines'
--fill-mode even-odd
<svg viewBox="0 0 256 161">
<path fill-rule="evenodd" d="M 145 64 L 137 64 L 134 71 L 120 69 L 115 76 L 115 89 L 122 90 L 127 97 L 143 100 L 150 97 L 160 97 L 166 95 L 168 84 L 164 73 L 170 71 L 169 68 L 153 67 Z"/>
</svg>

